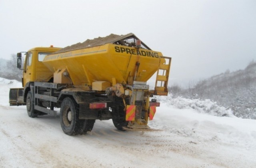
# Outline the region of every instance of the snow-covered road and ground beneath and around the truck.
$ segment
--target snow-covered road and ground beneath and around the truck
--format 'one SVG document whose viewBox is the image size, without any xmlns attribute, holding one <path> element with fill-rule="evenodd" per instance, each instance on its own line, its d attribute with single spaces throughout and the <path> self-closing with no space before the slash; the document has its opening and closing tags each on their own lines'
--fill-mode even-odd
<svg viewBox="0 0 256 168">
<path fill-rule="evenodd" d="M 68 136 L 58 116 L 29 118 L 26 106 L 9 106 L 15 87 L 21 84 L 0 78 L 3 168 L 256 167 L 256 120 L 219 117 L 209 100 L 162 98 L 149 124 L 156 131 L 121 132 L 108 120 L 96 121 L 86 135 Z"/>
</svg>

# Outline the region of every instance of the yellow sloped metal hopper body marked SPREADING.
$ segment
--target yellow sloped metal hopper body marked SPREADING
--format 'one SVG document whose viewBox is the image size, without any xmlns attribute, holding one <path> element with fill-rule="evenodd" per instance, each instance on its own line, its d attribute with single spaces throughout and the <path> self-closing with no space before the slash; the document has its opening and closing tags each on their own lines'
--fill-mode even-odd
<svg viewBox="0 0 256 168">
<path fill-rule="evenodd" d="M 137 54 L 138 53 L 138 54 Z M 135 74 L 136 81 L 146 82 L 158 69 L 161 52 L 135 47 L 105 44 L 46 56 L 43 63 L 54 72 L 54 68 L 67 68 L 74 85 L 91 85 L 92 81 L 108 81 L 126 84 Z M 81 70 L 82 69 L 82 70 Z M 134 77 L 132 77 L 134 78 Z M 113 85 L 113 84 L 112 84 Z"/>
</svg>

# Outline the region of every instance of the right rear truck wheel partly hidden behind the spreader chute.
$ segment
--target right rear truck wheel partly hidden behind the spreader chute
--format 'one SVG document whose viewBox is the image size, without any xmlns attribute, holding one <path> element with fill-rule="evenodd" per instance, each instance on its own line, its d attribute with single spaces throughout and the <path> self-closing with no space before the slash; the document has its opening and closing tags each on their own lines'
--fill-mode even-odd
<svg viewBox="0 0 256 168">
<path fill-rule="evenodd" d="M 118 106 L 118 112 L 120 118 L 112 118 L 113 124 L 118 130 L 125 131 L 123 127 L 128 125 L 128 121 L 125 120 L 124 107 Z"/>
</svg>

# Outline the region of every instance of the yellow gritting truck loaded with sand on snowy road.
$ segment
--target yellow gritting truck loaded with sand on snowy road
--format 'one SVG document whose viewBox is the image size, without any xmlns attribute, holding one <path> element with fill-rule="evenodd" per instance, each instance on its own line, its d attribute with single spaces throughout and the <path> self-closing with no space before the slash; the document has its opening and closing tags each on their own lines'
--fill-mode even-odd
<svg viewBox="0 0 256 168">
<path fill-rule="evenodd" d="M 112 119 L 118 130 L 148 129 L 160 106 L 153 95 L 168 94 L 171 58 L 132 33 L 24 53 L 23 88 L 10 89 L 10 106 L 26 105 L 32 118 L 57 116 L 60 108 L 60 124 L 68 135 L 91 131 L 95 120 Z M 17 57 L 21 69 L 22 52 Z M 146 82 L 155 73 L 150 90 Z"/>
</svg>

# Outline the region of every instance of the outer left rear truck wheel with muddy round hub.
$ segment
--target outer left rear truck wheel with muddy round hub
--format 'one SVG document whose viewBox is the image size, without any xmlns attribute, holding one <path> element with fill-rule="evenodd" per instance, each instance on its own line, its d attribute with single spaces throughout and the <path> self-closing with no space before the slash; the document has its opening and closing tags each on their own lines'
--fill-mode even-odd
<svg viewBox="0 0 256 168">
<path fill-rule="evenodd" d="M 60 106 L 60 125 L 65 134 L 76 135 L 80 133 L 80 120 L 78 106 L 71 98 L 64 98 Z"/>
</svg>

